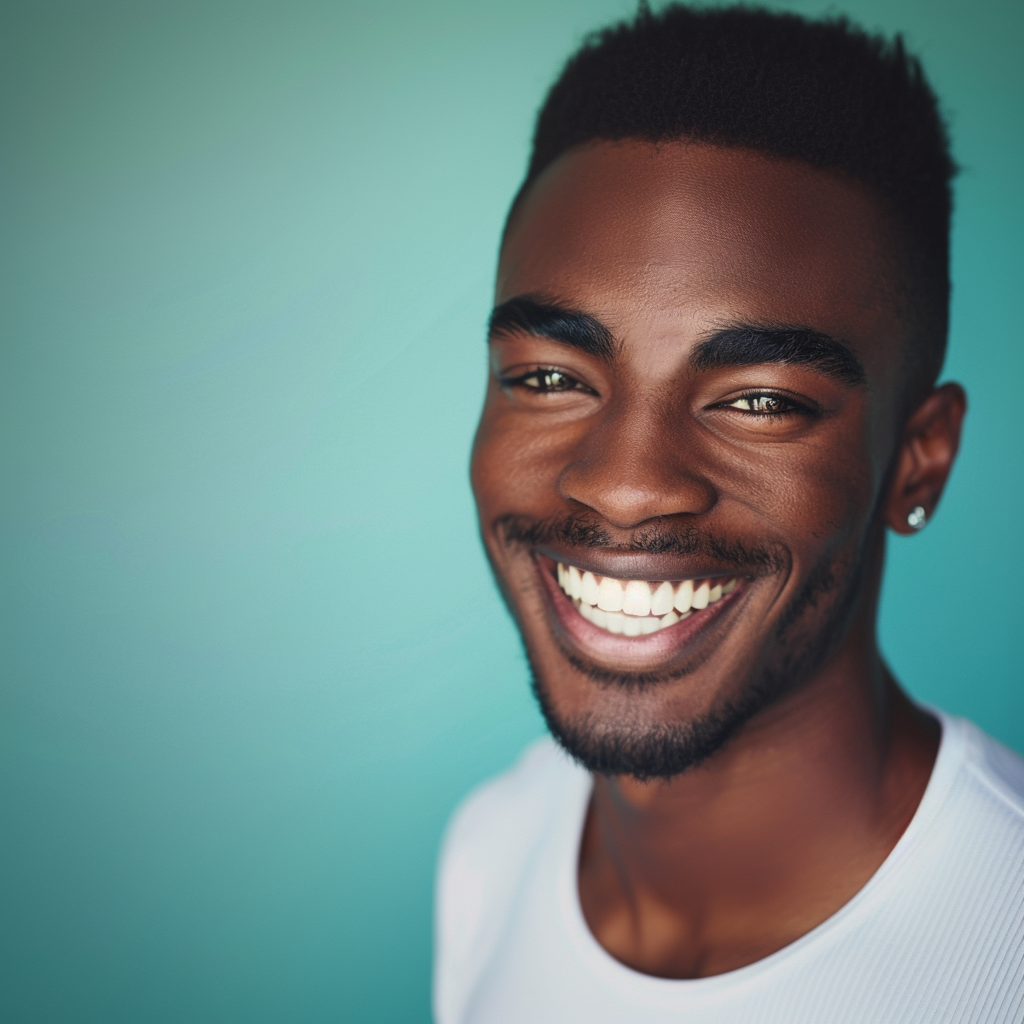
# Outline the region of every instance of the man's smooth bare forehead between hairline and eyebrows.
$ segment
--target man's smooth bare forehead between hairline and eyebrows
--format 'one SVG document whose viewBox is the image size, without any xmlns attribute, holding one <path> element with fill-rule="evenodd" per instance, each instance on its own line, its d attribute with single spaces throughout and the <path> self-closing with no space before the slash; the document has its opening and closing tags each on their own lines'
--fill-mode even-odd
<svg viewBox="0 0 1024 1024">
<path fill-rule="evenodd" d="M 891 253 L 877 204 L 838 175 L 745 150 L 599 142 L 526 195 L 498 301 L 550 295 L 616 331 L 799 324 L 876 362 L 900 334 Z"/>
</svg>

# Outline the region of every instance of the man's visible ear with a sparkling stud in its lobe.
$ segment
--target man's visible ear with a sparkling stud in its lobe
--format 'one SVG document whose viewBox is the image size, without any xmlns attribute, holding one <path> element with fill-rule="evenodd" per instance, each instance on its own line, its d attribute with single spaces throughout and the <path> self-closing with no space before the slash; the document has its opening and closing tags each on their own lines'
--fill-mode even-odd
<svg viewBox="0 0 1024 1024">
<path fill-rule="evenodd" d="M 952 469 L 967 412 L 959 384 L 943 384 L 907 420 L 896 453 L 886 521 L 897 534 L 912 534 L 907 516 L 919 505 L 930 519 Z"/>
</svg>

